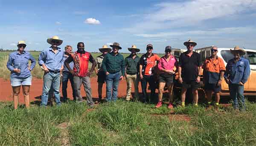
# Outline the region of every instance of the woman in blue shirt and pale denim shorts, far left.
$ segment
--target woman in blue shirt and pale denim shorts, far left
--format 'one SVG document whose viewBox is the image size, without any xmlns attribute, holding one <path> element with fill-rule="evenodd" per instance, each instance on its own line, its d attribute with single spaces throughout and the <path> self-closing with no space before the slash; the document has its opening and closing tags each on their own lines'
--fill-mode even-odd
<svg viewBox="0 0 256 146">
<path fill-rule="evenodd" d="M 7 68 L 11 71 L 11 86 L 13 90 L 14 109 L 17 109 L 19 102 L 20 86 L 22 85 L 25 106 L 29 108 L 29 88 L 31 85 L 31 71 L 35 67 L 35 58 L 24 51 L 26 47 L 25 41 L 19 41 L 17 44 L 17 51 L 9 54 Z M 29 66 L 29 60 L 31 65 Z"/>
</svg>

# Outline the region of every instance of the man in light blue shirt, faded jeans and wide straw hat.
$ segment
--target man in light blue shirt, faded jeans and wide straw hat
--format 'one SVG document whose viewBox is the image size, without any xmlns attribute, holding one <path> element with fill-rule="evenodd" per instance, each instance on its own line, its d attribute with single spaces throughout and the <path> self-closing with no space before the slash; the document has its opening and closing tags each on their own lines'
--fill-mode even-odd
<svg viewBox="0 0 256 146">
<path fill-rule="evenodd" d="M 61 70 L 63 69 L 64 51 L 58 46 L 63 41 L 54 36 L 47 39 L 47 43 L 51 44 L 49 49 L 41 52 L 38 57 L 38 64 L 44 68 L 44 85 L 41 96 L 41 106 L 47 106 L 49 90 L 54 90 L 54 97 L 57 106 L 61 105 L 60 100 L 60 82 Z"/>
</svg>

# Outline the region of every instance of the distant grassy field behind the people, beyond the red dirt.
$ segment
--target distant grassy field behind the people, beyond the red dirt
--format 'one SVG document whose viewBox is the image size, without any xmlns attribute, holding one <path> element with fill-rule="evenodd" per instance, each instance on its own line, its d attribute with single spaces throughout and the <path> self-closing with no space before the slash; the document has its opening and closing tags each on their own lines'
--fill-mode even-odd
<svg viewBox="0 0 256 146">
<path fill-rule="evenodd" d="M 4 78 L 4 79 L 9 79 L 10 78 L 10 71 L 6 68 L 6 63 L 8 61 L 8 55 L 11 52 L 0 52 L 0 77 Z M 32 56 L 35 58 L 36 60 L 36 66 L 35 69 L 32 70 L 32 77 L 36 77 L 41 79 L 44 75 L 44 72 L 42 71 L 42 69 L 40 68 L 40 66 L 38 65 L 38 56 L 40 52 L 30 52 L 32 54 Z M 92 53 L 93 58 L 96 59 L 97 56 L 99 56 L 101 53 Z M 128 53 L 124 53 L 123 56 L 127 57 L 129 54 Z M 141 56 L 142 54 L 138 54 L 138 56 Z M 160 56 L 163 56 L 163 54 L 159 54 Z M 91 63 L 89 63 L 89 68 L 91 67 Z M 96 76 L 95 72 L 93 72 L 92 76 Z"/>
</svg>

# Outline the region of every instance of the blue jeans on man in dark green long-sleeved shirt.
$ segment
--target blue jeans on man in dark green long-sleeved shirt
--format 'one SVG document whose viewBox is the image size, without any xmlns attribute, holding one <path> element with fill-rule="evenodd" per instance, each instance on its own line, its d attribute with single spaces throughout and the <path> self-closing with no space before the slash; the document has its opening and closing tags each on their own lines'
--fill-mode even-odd
<svg viewBox="0 0 256 146">
<path fill-rule="evenodd" d="M 109 73 L 108 75 L 106 75 L 106 86 L 107 86 L 106 100 L 108 102 L 111 102 L 111 100 L 116 101 L 120 77 L 121 77 L 121 72 L 116 72 L 114 74 Z M 113 92 L 111 90 L 113 90 Z"/>
</svg>

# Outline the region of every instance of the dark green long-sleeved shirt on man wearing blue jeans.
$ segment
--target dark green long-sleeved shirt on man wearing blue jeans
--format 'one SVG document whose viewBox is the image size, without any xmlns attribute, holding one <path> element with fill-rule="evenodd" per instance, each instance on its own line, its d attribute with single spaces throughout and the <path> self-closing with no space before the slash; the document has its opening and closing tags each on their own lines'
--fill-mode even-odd
<svg viewBox="0 0 256 146">
<path fill-rule="evenodd" d="M 105 55 L 102 61 L 103 71 L 109 73 L 116 73 L 121 71 L 122 76 L 125 75 L 125 60 L 122 54 L 114 55 L 112 52 Z"/>
</svg>

